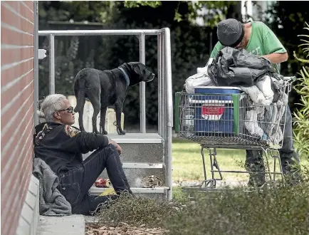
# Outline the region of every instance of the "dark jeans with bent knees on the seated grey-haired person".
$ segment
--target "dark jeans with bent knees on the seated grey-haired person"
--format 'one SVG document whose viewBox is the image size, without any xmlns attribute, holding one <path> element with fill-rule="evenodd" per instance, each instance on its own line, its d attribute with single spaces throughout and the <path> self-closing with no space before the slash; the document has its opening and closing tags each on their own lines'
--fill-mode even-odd
<svg viewBox="0 0 309 235">
<path fill-rule="evenodd" d="M 90 215 L 99 204 L 117 198 L 115 194 L 102 197 L 89 194 L 90 187 L 105 168 L 117 194 L 122 192 L 132 194 L 118 152 L 113 145 L 108 145 L 96 150 L 85 161 L 58 176 L 60 180 L 58 189 L 70 202 L 73 214 Z"/>
</svg>

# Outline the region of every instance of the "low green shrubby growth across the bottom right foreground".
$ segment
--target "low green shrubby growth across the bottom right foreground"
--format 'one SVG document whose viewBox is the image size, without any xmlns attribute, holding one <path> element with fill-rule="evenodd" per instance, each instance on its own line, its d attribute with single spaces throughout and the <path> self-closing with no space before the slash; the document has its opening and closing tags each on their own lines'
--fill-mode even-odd
<svg viewBox="0 0 309 235">
<path fill-rule="evenodd" d="M 120 197 L 103 208 L 100 224 L 160 227 L 172 235 L 309 234 L 308 186 L 302 182 L 253 192 L 226 188 L 197 194 L 194 203 Z"/>
</svg>

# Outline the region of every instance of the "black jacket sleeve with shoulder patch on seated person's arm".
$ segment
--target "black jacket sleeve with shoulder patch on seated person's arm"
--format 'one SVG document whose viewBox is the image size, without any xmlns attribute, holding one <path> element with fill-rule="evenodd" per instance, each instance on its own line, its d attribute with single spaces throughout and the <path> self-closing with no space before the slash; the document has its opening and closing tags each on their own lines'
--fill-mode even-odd
<svg viewBox="0 0 309 235">
<path fill-rule="evenodd" d="M 63 150 L 87 153 L 108 145 L 108 137 L 105 135 L 80 131 L 75 127 L 66 126 L 64 128 L 64 132 L 68 135 L 68 138 L 61 145 Z M 71 128 L 75 129 L 72 130 Z"/>
</svg>

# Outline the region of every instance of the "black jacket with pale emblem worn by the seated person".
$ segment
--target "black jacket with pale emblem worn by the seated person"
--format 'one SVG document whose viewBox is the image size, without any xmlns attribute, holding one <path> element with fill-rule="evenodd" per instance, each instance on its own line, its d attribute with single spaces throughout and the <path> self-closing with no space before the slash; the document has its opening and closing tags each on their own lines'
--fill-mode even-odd
<svg viewBox="0 0 309 235">
<path fill-rule="evenodd" d="M 108 137 L 70 125 L 43 122 L 36 126 L 33 144 L 35 157 L 40 157 L 59 175 L 83 162 L 83 153 L 108 145 Z"/>
</svg>

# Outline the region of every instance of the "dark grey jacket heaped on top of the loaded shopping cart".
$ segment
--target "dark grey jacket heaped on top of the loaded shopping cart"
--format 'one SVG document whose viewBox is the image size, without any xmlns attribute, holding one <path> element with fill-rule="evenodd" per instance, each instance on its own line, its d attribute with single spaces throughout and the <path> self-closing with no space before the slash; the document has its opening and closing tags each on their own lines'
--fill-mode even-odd
<svg viewBox="0 0 309 235">
<path fill-rule="evenodd" d="M 250 87 L 256 85 L 264 75 L 281 79 L 281 75 L 275 73 L 271 62 L 266 58 L 230 47 L 219 51 L 209 66 L 208 74 L 219 86 Z"/>
</svg>

